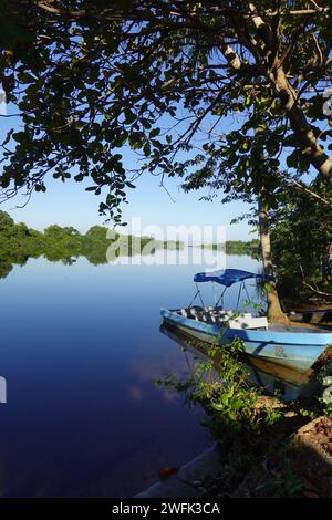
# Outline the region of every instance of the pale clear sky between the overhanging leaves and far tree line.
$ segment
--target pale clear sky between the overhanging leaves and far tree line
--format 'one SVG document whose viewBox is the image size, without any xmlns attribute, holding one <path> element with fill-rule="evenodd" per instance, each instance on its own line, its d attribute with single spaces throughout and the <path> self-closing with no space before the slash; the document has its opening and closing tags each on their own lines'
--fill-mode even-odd
<svg viewBox="0 0 332 520">
<path fill-rule="evenodd" d="M 1 117 L 0 122 L 1 139 L 11 126 L 15 131 L 20 128 L 17 118 Z M 124 155 L 125 164 L 133 166 L 134 157 L 131 150 L 124 150 Z M 103 195 L 96 197 L 85 191 L 84 187 L 89 186 L 89 183 L 62 183 L 50 177 L 45 184 L 46 193 L 35 193 L 23 208 L 19 206 L 24 205 L 25 199 L 18 196 L 2 204 L 0 209 L 10 212 L 15 221 L 23 221 L 40 230 L 51 223 L 59 223 L 73 226 L 85 232 L 91 226 L 104 222 L 105 217 L 98 216 L 98 204 L 103 200 Z M 256 237 L 256 232 L 249 235 L 252 228 L 246 221 L 230 226 L 231 219 L 248 211 L 249 207 L 243 202 L 221 205 L 217 199 L 208 202 L 199 200 L 205 195 L 204 190 L 185 194 L 179 187 L 179 179 L 168 179 L 165 184 L 169 194 L 159 186 L 158 177 L 144 174 L 137 180 L 136 189 L 128 190 L 129 204 L 123 206 L 124 220 L 141 217 L 144 227 L 155 225 L 163 228 L 169 225 L 226 226 L 227 239 L 251 240 Z"/>
</svg>

